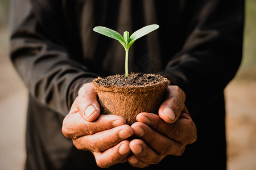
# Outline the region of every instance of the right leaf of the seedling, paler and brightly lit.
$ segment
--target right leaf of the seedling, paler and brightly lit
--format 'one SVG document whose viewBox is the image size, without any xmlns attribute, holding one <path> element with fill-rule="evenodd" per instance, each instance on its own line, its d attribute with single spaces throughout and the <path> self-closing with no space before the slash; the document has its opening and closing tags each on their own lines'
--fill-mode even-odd
<svg viewBox="0 0 256 170">
<path fill-rule="evenodd" d="M 140 37 L 147 35 L 148 33 L 154 31 L 155 29 L 158 29 L 159 25 L 157 24 L 152 24 L 152 25 L 147 25 L 146 27 L 143 27 L 137 31 L 135 31 L 129 39 L 129 44 L 127 46 L 127 48 L 129 49 L 130 46 L 133 44 L 133 42 L 137 39 L 139 39 Z"/>
</svg>

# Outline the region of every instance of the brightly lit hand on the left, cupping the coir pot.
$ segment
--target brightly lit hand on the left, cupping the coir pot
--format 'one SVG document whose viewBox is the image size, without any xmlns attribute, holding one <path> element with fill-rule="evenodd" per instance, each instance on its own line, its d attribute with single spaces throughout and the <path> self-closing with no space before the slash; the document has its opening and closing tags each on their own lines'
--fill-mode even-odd
<svg viewBox="0 0 256 170">
<path fill-rule="evenodd" d="M 86 83 L 79 90 L 79 96 L 64 118 L 62 131 L 79 150 L 91 151 L 101 168 L 127 162 L 130 142 L 126 139 L 133 135 L 133 129 L 120 116 L 100 115 L 92 83 Z"/>
</svg>

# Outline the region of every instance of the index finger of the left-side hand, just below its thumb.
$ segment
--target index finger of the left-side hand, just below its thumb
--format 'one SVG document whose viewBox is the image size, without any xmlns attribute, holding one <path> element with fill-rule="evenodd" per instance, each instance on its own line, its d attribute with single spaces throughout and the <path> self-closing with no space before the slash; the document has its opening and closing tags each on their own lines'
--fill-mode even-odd
<svg viewBox="0 0 256 170">
<path fill-rule="evenodd" d="M 102 114 L 96 121 L 88 122 L 81 118 L 78 112 L 69 113 L 63 121 L 62 132 L 67 138 L 76 139 L 84 135 L 92 135 L 99 131 L 112 129 L 125 125 L 126 121 L 121 116 Z"/>
</svg>

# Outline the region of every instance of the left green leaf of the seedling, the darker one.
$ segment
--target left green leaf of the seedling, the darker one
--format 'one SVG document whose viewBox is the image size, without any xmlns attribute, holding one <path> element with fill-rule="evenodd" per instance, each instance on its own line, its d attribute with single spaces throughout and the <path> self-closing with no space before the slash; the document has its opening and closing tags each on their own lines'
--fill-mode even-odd
<svg viewBox="0 0 256 170">
<path fill-rule="evenodd" d="M 122 45 L 125 44 L 125 40 L 123 39 L 123 37 L 118 32 L 114 31 L 113 29 L 98 26 L 98 27 L 94 27 L 93 31 L 101 33 L 102 35 L 108 36 L 112 39 L 118 40 L 119 42 L 121 42 Z"/>
</svg>

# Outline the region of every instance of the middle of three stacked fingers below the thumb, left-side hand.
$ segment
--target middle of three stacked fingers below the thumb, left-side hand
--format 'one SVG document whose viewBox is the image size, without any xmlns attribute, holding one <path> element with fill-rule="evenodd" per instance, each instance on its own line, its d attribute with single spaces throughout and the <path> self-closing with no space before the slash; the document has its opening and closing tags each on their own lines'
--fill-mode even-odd
<svg viewBox="0 0 256 170">
<path fill-rule="evenodd" d="M 73 139 L 73 143 L 79 150 L 100 152 L 117 145 L 124 139 L 131 137 L 131 135 L 133 135 L 133 129 L 129 125 L 122 125 L 93 135 Z"/>
</svg>

